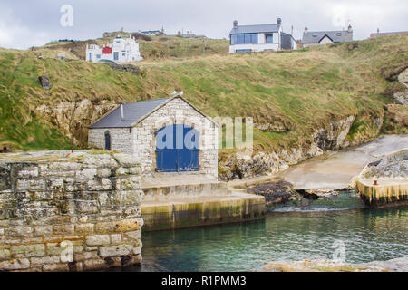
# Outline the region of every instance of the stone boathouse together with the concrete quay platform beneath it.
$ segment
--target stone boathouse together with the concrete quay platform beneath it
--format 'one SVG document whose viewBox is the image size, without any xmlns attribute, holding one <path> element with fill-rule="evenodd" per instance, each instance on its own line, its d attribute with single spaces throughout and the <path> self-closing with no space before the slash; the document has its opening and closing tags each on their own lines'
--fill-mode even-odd
<svg viewBox="0 0 408 290">
<path fill-rule="evenodd" d="M 218 180 L 219 125 L 180 94 L 119 104 L 89 127 L 88 143 L 139 160 L 143 230 L 262 216 L 263 197 Z"/>
</svg>

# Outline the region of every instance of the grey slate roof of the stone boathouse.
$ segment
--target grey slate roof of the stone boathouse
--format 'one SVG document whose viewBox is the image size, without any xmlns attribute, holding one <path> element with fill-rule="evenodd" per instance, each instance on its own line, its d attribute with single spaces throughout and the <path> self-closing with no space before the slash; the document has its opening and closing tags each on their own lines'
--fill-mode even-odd
<svg viewBox="0 0 408 290">
<path fill-rule="evenodd" d="M 124 120 L 121 121 L 121 107 L 119 106 L 115 110 L 111 111 L 106 116 L 102 117 L 99 121 L 93 123 L 89 128 L 127 128 L 131 127 L 136 121 L 140 121 L 141 118 L 148 113 L 159 107 L 162 103 L 168 101 L 170 98 L 161 98 L 155 100 L 141 101 L 141 102 L 129 102 L 123 104 Z"/>
</svg>

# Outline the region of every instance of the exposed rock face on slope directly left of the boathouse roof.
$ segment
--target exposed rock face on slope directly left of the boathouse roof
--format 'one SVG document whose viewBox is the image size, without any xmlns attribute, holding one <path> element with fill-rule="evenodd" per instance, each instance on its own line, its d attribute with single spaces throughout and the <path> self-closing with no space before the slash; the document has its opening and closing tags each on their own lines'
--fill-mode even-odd
<svg viewBox="0 0 408 290">
<path fill-rule="evenodd" d="M 86 147 L 88 126 L 114 107 L 115 104 L 107 101 L 94 104 L 88 99 L 83 99 L 81 102 L 59 102 L 53 106 L 43 104 L 36 109 L 47 121 L 58 126 L 66 136 L 72 138 L 76 145 Z"/>
</svg>

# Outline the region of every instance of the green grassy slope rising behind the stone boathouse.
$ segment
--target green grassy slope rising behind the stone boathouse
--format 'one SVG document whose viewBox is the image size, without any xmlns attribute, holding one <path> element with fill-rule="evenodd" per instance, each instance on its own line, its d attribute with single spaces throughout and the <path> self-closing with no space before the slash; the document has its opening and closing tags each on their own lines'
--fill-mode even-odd
<svg viewBox="0 0 408 290">
<path fill-rule="evenodd" d="M 290 124 L 292 130 L 279 133 L 256 130 L 257 150 L 310 142 L 316 127 L 350 114 L 357 118 L 348 138 L 369 138 L 374 117 L 401 89 L 385 78 L 407 66 L 407 41 L 401 35 L 298 52 L 152 59 L 137 63 L 143 75 L 102 63 L 38 59 L 53 53 L 46 49 L 0 49 L 0 142 L 14 142 L 21 150 L 67 148 L 70 140 L 35 112 L 37 105 L 83 98 L 131 102 L 168 96 L 175 88 L 210 116 L 253 116 L 257 123 L 279 118 Z M 52 82 L 49 93 L 37 80 L 43 74 Z"/>
</svg>

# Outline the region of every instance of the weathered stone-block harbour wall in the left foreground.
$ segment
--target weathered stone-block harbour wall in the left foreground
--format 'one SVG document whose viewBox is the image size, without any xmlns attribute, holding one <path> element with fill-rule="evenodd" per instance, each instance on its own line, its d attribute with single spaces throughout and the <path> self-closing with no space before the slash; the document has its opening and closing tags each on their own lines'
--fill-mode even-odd
<svg viewBox="0 0 408 290">
<path fill-rule="evenodd" d="M 122 153 L 0 154 L 0 271 L 141 263 L 140 182 Z"/>
</svg>

